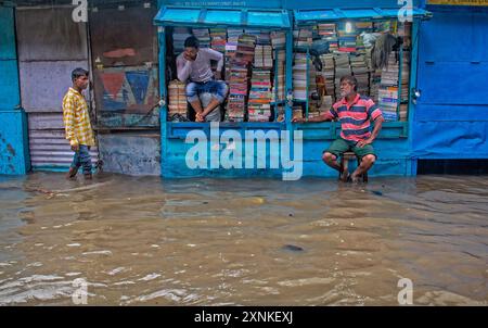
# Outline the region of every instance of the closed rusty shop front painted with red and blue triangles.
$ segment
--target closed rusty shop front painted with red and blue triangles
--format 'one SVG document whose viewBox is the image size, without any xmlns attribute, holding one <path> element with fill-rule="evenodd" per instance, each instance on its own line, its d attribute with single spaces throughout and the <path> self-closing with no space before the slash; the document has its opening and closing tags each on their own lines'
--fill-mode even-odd
<svg viewBox="0 0 488 328">
<path fill-rule="evenodd" d="M 155 5 L 99 8 L 89 16 L 104 171 L 160 175 Z M 137 129 L 137 131 L 134 131 Z"/>
</svg>

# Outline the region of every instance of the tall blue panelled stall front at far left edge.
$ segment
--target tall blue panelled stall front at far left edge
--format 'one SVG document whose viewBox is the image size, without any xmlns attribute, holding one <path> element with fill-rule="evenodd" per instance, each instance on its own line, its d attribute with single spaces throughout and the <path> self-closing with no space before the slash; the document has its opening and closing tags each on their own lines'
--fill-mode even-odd
<svg viewBox="0 0 488 328">
<path fill-rule="evenodd" d="M 14 10 L 0 5 L 0 174 L 29 171 L 27 117 L 20 108 Z"/>
</svg>

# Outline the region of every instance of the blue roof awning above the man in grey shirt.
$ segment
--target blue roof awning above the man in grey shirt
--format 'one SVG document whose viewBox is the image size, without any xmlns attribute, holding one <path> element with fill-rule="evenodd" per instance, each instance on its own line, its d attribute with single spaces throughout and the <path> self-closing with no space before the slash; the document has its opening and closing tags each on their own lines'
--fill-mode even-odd
<svg viewBox="0 0 488 328">
<path fill-rule="evenodd" d="M 164 7 L 154 18 L 163 26 L 242 26 L 283 29 L 292 26 L 286 10 Z"/>
</svg>

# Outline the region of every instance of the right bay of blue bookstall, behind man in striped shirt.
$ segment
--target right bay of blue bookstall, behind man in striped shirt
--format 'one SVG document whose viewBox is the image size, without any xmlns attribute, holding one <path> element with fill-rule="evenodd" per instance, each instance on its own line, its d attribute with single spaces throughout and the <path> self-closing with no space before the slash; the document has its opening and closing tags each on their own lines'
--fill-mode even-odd
<svg viewBox="0 0 488 328">
<path fill-rule="evenodd" d="M 401 9 L 396 7 L 395 1 L 365 1 L 360 4 L 354 2 L 341 1 L 328 1 L 329 9 L 324 9 L 323 4 L 320 9 L 304 9 L 308 7 L 308 2 L 300 1 L 287 1 L 293 5 L 295 24 L 298 27 L 311 27 L 320 23 L 345 23 L 351 22 L 381 22 L 385 20 L 396 21 L 401 14 Z M 368 3 L 367 3 L 368 2 Z M 317 7 L 318 3 L 310 3 L 310 7 Z M 368 5 L 371 5 L 368 8 Z M 383 5 L 383 7 L 382 7 Z M 413 7 L 411 9 L 412 22 L 412 40 L 411 40 L 411 73 L 410 80 L 408 81 L 409 90 L 416 88 L 416 58 L 418 58 L 418 31 L 420 22 L 429 17 L 429 13 L 423 9 Z M 303 47 L 300 47 L 303 48 Z M 301 49 L 307 51 L 309 49 Z M 401 63 L 402 63 L 402 49 L 399 52 L 400 56 L 400 80 L 401 87 Z M 412 101 L 412 92 L 409 92 L 407 97 L 401 96 L 401 88 L 398 88 L 398 99 L 400 104 L 408 105 L 408 117 L 404 121 L 393 121 L 383 123 L 382 131 L 374 142 L 374 148 L 377 152 L 378 159 L 372 169 L 371 175 L 404 175 L 410 176 L 415 174 L 416 162 L 412 159 L 411 142 L 412 134 L 411 123 L 412 113 L 414 112 L 414 103 Z M 308 106 L 308 102 L 307 102 Z M 380 105 L 381 106 L 381 105 Z M 321 154 L 329 144 L 337 139 L 341 134 L 341 123 L 326 122 L 326 123 L 305 123 L 294 124 L 294 129 L 304 131 L 304 174 L 312 176 L 335 176 L 336 172 L 325 166 L 322 162 Z"/>
</svg>

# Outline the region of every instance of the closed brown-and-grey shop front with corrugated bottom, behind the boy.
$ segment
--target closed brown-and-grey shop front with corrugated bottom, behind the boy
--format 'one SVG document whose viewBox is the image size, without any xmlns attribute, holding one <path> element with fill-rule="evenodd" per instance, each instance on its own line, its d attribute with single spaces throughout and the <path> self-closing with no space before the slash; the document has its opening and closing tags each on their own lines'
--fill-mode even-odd
<svg viewBox="0 0 488 328">
<path fill-rule="evenodd" d="M 28 113 L 33 168 L 67 167 L 73 152 L 64 137 L 61 103 L 72 86 L 70 72 L 89 68 L 87 25 L 74 23 L 69 8 L 18 8 L 16 15 L 21 98 Z M 94 163 L 97 148 L 91 155 Z"/>
</svg>

